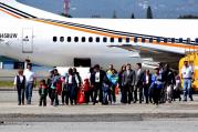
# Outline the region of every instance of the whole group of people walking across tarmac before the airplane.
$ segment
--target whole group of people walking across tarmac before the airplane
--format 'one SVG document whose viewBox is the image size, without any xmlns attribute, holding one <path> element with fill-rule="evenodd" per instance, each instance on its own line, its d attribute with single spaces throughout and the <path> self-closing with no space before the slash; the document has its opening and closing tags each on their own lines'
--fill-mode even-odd
<svg viewBox="0 0 198 132">
<path fill-rule="evenodd" d="M 82 80 L 81 74 L 75 68 L 70 68 L 65 75 L 61 75 L 56 69 L 50 71 L 48 80 L 41 80 L 39 83 L 39 105 L 46 105 L 46 98 L 51 100 L 51 105 L 60 104 L 79 104 L 79 100 L 83 93 L 83 103 L 112 104 L 116 102 L 116 93 L 121 90 L 121 103 L 169 103 L 179 99 L 181 79 L 168 64 L 159 64 L 154 73 L 144 70 L 142 63 L 136 63 L 136 69 L 132 65 L 124 64 L 121 71 L 116 71 L 113 64 L 110 64 L 107 71 L 101 69 L 98 64 L 90 69 L 86 79 Z M 192 67 L 185 61 L 181 70 L 184 80 L 184 101 L 187 101 L 187 94 L 192 101 L 191 80 Z M 18 104 L 24 104 L 24 94 L 27 104 L 31 104 L 32 90 L 35 87 L 35 73 L 32 65 L 28 64 L 28 69 L 19 70 L 14 79 L 14 85 L 18 90 Z M 82 103 L 82 102 L 81 102 Z"/>
</svg>

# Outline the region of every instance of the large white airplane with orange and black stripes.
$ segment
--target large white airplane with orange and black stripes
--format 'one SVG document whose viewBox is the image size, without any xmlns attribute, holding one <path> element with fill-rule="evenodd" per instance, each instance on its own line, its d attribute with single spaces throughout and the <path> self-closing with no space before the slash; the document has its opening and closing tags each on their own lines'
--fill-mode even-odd
<svg viewBox="0 0 198 132">
<path fill-rule="evenodd" d="M 198 50 L 197 20 L 74 19 L 15 0 L 0 0 L 0 54 L 51 67 L 177 63 Z"/>
</svg>

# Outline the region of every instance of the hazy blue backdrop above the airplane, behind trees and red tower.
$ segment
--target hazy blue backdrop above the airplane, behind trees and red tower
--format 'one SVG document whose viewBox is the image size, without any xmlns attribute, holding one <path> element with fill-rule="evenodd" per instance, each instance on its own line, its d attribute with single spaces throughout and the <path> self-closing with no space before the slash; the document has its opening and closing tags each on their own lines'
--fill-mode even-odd
<svg viewBox="0 0 198 132">
<path fill-rule="evenodd" d="M 63 0 L 18 0 L 50 12 L 62 13 Z M 198 16 L 198 0 L 70 0 L 70 14 L 74 18 L 101 16 L 112 18 L 146 18 L 146 9 L 152 7 L 154 18 L 175 19 L 184 14 Z"/>
</svg>

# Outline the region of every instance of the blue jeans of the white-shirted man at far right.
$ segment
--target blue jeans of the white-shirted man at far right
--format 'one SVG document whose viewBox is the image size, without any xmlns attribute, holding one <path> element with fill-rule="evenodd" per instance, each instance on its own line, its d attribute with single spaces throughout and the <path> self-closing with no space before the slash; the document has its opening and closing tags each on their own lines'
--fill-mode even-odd
<svg viewBox="0 0 198 132">
<path fill-rule="evenodd" d="M 187 94 L 192 100 L 192 95 L 191 95 L 191 79 L 184 79 L 184 100 L 187 100 Z"/>
</svg>

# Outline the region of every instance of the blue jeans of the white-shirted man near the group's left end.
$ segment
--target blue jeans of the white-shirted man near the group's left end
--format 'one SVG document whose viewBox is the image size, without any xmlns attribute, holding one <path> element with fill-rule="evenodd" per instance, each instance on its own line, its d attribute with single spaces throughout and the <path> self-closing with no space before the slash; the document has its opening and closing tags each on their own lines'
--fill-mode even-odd
<svg viewBox="0 0 198 132">
<path fill-rule="evenodd" d="M 33 83 L 32 82 L 27 82 L 27 85 L 25 85 L 25 98 L 27 98 L 27 103 L 28 104 L 31 104 L 32 90 L 33 90 Z"/>
</svg>

